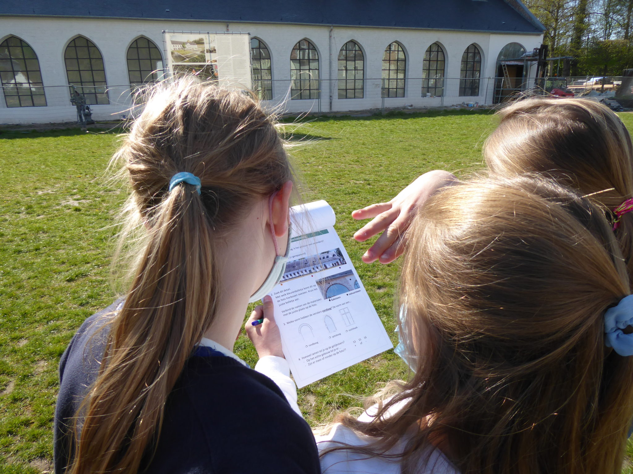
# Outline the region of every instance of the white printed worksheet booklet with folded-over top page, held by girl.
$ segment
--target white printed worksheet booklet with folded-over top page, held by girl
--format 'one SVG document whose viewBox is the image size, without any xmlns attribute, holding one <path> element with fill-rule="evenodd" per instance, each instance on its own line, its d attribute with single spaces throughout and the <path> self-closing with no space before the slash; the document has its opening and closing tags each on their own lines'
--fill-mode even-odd
<svg viewBox="0 0 633 474">
<path fill-rule="evenodd" d="M 325 201 L 291 209 L 285 273 L 270 296 L 299 388 L 393 346 Z"/>
</svg>

